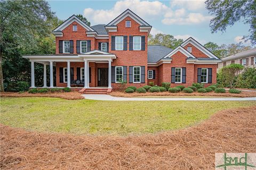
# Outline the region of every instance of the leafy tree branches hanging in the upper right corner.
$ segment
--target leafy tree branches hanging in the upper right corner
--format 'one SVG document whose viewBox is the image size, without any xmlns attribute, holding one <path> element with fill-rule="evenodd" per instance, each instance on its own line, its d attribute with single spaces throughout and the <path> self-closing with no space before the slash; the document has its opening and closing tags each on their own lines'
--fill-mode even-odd
<svg viewBox="0 0 256 170">
<path fill-rule="evenodd" d="M 211 32 L 225 32 L 229 25 L 234 25 L 243 19 L 245 24 L 250 25 L 249 35 L 244 35 L 245 40 L 251 40 L 256 45 L 256 1 L 222 1 L 207 0 L 206 9 L 215 17 L 211 20 Z"/>
</svg>

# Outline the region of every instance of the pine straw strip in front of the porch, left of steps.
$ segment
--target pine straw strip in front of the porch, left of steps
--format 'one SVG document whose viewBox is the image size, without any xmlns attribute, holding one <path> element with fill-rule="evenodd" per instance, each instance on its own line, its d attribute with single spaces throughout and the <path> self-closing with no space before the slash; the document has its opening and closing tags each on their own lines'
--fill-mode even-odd
<svg viewBox="0 0 256 170">
<path fill-rule="evenodd" d="M 77 91 L 71 92 L 47 92 L 45 94 L 29 94 L 28 92 L 23 92 L 19 94 L 18 92 L 2 92 L 1 97 L 58 97 L 68 100 L 83 99 L 81 94 Z"/>
</svg>

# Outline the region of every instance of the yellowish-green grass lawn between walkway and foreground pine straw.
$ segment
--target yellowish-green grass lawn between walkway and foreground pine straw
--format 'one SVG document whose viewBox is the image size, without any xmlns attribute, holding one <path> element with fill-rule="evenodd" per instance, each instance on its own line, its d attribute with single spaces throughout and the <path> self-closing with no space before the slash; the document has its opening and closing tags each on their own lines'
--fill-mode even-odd
<svg viewBox="0 0 256 170">
<path fill-rule="evenodd" d="M 222 109 L 256 101 L 95 101 L 1 98 L 1 123 L 75 134 L 141 134 L 194 125 Z"/>
</svg>

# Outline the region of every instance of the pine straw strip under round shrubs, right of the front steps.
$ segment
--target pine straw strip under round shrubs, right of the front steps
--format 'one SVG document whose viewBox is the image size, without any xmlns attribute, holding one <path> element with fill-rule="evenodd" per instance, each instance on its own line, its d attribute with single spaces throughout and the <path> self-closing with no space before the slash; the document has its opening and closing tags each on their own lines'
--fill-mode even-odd
<svg viewBox="0 0 256 170">
<path fill-rule="evenodd" d="M 121 91 L 113 91 L 110 92 L 109 95 L 115 97 L 143 97 L 143 96 L 211 96 L 211 97 L 256 97 L 256 91 L 241 91 L 241 94 L 230 94 L 226 92 L 225 94 L 217 94 L 215 92 L 207 92 L 205 94 L 199 92 L 193 92 L 191 94 L 187 94 L 185 92 L 178 92 L 178 93 L 170 93 L 170 92 L 146 92 L 138 93 L 134 92 L 132 94 L 127 94 Z"/>
</svg>

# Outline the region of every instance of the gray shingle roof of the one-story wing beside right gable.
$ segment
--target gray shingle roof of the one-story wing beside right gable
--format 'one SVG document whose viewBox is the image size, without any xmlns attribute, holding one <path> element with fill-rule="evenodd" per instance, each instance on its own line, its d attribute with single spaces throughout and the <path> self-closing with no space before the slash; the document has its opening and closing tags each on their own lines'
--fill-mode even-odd
<svg viewBox="0 0 256 170">
<path fill-rule="evenodd" d="M 161 45 L 148 45 L 148 63 L 156 63 L 172 51 Z"/>
</svg>

